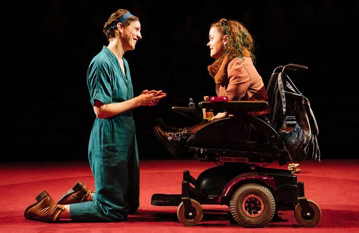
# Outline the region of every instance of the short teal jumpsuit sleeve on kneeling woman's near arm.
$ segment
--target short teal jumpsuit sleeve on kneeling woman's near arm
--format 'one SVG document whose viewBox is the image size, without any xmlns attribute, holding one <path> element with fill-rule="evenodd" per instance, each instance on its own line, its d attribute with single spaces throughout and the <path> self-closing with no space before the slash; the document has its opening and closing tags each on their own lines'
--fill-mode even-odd
<svg viewBox="0 0 359 233">
<path fill-rule="evenodd" d="M 102 103 L 112 102 L 111 77 L 106 66 L 101 63 L 91 63 L 87 72 L 87 82 L 92 106 L 95 100 Z"/>
</svg>

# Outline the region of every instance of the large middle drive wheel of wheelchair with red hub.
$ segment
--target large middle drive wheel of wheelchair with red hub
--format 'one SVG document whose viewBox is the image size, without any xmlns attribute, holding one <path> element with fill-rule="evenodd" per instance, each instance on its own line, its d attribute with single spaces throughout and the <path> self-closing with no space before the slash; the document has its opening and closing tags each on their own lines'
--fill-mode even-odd
<svg viewBox="0 0 359 233">
<path fill-rule="evenodd" d="M 267 187 L 249 183 L 234 192 L 229 208 L 234 220 L 242 226 L 264 227 L 274 216 L 275 201 Z"/>
</svg>

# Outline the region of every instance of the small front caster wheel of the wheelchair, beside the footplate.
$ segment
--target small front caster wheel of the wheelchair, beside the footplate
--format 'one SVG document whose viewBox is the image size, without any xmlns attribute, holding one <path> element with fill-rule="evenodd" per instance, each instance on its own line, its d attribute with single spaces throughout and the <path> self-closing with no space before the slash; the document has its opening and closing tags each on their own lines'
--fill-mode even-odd
<svg viewBox="0 0 359 233">
<path fill-rule="evenodd" d="M 185 205 L 183 202 L 178 205 L 177 209 L 177 217 L 180 222 L 182 222 L 185 226 L 194 226 L 201 222 L 203 217 L 203 209 L 200 202 L 191 199 L 191 205 L 194 209 L 194 213 L 185 213 Z"/>
</svg>

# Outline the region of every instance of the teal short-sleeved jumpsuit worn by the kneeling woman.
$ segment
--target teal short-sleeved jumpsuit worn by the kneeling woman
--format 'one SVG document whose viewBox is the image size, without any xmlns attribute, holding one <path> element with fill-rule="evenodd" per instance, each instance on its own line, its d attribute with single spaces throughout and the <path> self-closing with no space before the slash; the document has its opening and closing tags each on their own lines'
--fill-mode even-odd
<svg viewBox="0 0 359 233">
<path fill-rule="evenodd" d="M 133 98 L 127 61 L 125 73 L 115 55 L 104 46 L 91 61 L 87 84 L 91 104 L 123 102 Z M 95 180 L 93 201 L 70 205 L 72 221 L 126 220 L 139 205 L 139 166 L 131 111 L 95 119 L 89 141 L 89 162 Z"/>
</svg>

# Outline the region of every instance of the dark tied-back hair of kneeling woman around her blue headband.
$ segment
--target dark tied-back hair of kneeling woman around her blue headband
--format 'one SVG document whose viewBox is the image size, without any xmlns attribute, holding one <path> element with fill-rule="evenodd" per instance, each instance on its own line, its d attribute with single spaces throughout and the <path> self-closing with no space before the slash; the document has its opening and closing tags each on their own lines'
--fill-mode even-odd
<svg viewBox="0 0 359 233">
<path fill-rule="evenodd" d="M 104 25 L 104 34 L 108 40 L 110 38 L 115 37 L 116 27 L 113 27 L 113 26 L 117 25 L 118 19 L 121 18 L 127 12 L 129 12 L 129 11 L 126 9 L 118 9 L 116 12 L 111 14 L 111 16 L 109 17 L 109 19 L 107 20 L 107 22 Z M 123 23 L 123 25 L 125 27 L 129 26 L 132 21 L 139 21 L 139 18 L 137 16 L 131 16 L 126 19 L 126 21 Z"/>
</svg>

